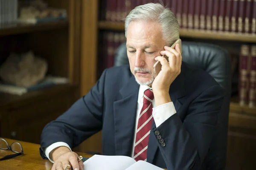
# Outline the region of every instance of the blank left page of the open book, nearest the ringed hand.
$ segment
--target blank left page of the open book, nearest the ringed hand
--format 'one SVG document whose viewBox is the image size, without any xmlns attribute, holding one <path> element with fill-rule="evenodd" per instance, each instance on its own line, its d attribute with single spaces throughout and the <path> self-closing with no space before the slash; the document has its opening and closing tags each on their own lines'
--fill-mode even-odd
<svg viewBox="0 0 256 170">
<path fill-rule="evenodd" d="M 93 155 L 84 161 L 84 170 L 125 170 L 135 162 L 128 156 Z"/>
</svg>

